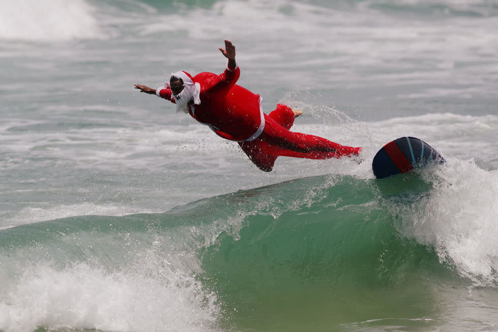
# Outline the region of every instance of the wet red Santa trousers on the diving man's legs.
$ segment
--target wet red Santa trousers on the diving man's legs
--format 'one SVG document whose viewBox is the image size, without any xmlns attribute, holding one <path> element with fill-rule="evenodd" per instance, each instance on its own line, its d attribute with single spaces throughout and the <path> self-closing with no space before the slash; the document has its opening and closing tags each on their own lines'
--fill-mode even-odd
<svg viewBox="0 0 498 332">
<path fill-rule="evenodd" d="M 361 149 L 289 131 L 294 124 L 294 112 L 282 104 L 278 104 L 270 115 L 265 114 L 265 121 L 265 130 L 257 139 L 239 143 L 249 159 L 265 172 L 273 169 L 278 156 L 329 159 L 357 155 Z"/>
</svg>

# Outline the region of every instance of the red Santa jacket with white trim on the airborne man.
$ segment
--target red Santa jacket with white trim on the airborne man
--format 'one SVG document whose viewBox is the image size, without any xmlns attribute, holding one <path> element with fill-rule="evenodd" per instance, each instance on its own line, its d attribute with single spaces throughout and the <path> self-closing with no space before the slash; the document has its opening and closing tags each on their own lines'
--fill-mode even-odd
<svg viewBox="0 0 498 332">
<path fill-rule="evenodd" d="M 253 140 L 264 129 L 261 97 L 235 84 L 239 76 L 238 66 L 227 67 L 220 75 L 204 72 L 194 76 L 193 81 L 200 84 L 201 103 L 191 103 L 189 114 L 225 139 Z M 168 87 L 161 89 L 158 96 L 174 103 Z"/>
</svg>

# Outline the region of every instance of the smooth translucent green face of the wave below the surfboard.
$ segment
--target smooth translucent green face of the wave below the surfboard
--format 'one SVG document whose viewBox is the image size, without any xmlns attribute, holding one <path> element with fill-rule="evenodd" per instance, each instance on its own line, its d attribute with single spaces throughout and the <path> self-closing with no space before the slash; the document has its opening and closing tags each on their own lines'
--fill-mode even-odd
<svg viewBox="0 0 498 332">
<path fill-rule="evenodd" d="M 403 216 L 390 205 L 429 195 L 413 178 L 415 191 L 393 194 L 406 180 L 379 188 L 371 179 L 318 176 L 267 187 L 259 194 L 274 202 L 269 210 L 247 216 L 238 237 L 222 233 L 202 250 L 204 284 L 223 300 L 229 317 L 263 330 L 326 329 L 386 312 L 434 313 L 437 301 L 428 289 L 459 277 L 430 245 L 398 232 Z M 294 205 L 309 194 L 313 202 Z M 407 311 L 406 301 L 423 310 Z"/>
</svg>

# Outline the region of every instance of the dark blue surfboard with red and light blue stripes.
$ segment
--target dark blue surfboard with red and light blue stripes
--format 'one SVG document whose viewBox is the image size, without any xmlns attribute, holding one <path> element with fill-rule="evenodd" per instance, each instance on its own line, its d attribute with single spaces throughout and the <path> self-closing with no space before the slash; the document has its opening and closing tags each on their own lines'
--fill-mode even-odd
<svg viewBox="0 0 498 332">
<path fill-rule="evenodd" d="M 430 163 L 444 164 L 446 160 L 429 144 L 416 137 L 400 137 L 384 145 L 372 161 L 376 178 L 406 173 Z"/>
</svg>

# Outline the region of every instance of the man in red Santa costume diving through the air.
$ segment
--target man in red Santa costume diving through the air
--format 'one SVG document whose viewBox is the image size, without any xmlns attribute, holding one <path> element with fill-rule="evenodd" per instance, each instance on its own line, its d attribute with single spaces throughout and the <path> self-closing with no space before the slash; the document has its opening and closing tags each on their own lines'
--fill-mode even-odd
<svg viewBox="0 0 498 332">
<path fill-rule="evenodd" d="M 135 84 L 135 88 L 171 101 L 176 104 L 176 112 L 189 113 L 217 135 L 238 142 L 249 159 L 266 172 L 272 170 L 278 156 L 328 159 L 359 154 L 360 147 L 289 131 L 301 111 L 278 104 L 265 114 L 261 97 L 235 84 L 240 76 L 235 46 L 225 40 L 225 49 L 220 51 L 228 58 L 221 75 L 200 73 L 192 77 L 179 71 L 158 89 L 141 84 Z"/>
</svg>

